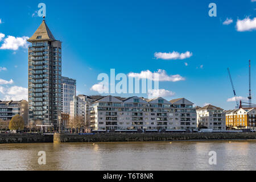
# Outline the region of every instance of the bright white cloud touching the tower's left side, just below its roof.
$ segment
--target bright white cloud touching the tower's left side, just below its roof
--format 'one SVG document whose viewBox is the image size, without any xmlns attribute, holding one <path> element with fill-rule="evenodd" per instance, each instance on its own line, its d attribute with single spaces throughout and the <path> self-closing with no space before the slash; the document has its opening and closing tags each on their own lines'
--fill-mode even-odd
<svg viewBox="0 0 256 182">
<path fill-rule="evenodd" d="M 22 38 L 15 38 L 14 36 L 8 35 L 7 38 L 4 39 L 4 43 L 0 49 L 18 50 L 19 47 L 27 48 L 27 39 L 27 36 L 23 36 Z"/>
</svg>

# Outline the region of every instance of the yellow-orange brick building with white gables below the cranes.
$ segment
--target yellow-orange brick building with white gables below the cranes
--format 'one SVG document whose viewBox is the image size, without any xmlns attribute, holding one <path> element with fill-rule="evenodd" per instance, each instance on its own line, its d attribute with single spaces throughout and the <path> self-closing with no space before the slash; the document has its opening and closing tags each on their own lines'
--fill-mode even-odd
<svg viewBox="0 0 256 182">
<path fill-rule="evenodd" d="M 240 108 L 226 110 L 226 126 L 236 129 L 256 129 L 256 109 Z"/>
</svg>

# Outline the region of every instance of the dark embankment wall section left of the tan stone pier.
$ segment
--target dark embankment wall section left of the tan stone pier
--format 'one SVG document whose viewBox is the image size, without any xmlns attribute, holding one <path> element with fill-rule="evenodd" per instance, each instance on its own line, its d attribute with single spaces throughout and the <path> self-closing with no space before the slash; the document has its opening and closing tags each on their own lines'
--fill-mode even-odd
<svg viewBox="0 0 256 182">
<path fill-rule="evenodd" d="M 0 134 L 0 143 L 44 143 L 53 142 L 53 135 Z"/>
</svg>

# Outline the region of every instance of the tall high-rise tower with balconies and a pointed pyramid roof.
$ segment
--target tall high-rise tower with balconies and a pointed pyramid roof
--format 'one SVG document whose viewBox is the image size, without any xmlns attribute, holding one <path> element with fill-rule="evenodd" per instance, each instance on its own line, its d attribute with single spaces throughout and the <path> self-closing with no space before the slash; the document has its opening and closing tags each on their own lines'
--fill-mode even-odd
<svg viewBox="0 0 256 182">
<path fill-rule="evenodd" d="M 28 125 L 59 127 L 61 119 L 61 42 L 43 20 L 27 40 Z"/>
</svg>

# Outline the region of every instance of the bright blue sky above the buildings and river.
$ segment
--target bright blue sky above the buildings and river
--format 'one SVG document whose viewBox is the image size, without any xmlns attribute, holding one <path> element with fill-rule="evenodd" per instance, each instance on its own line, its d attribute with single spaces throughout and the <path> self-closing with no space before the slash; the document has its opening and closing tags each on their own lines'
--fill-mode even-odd
<svg viewBox="0 0 256 182">
<path fill-rule="evenodd" d="M 250 59 L 256 102 L 256 2 L 251 0 L 4 1 L 0 6 L 1 100 L 26 97 L 28 61 L 23 40 L 42 22 L 36 13 L 40 2 L 46 4 L 52 34 L 63 42 L 62 74 L 77 80 L 78 94 L 99 94 L 92 86 L 99 82 L 98 74 L 110 75 L 111 68 L 125 74 L 161 69 L 167 77 L 184 78 L 160 81 L 164 98 L 185 97 L 196 105 L 233 109 L 235 102 L 227 102 L 233 92 L 226 69 L 230 68 L 237 95 L 247 97 Z M 211 2 L 217 5 L 217 17 L 208 15 Z M 233 22 L 223 24 L 227 18 Z M 9 35 L 13 41 L 7 39 Z M 10 42 L 3 45 L 6 39 Z M 169 53 L 174 51 L 191 55 L 155 57 L 156 52 L 172 57 Z"/>
</svg>

